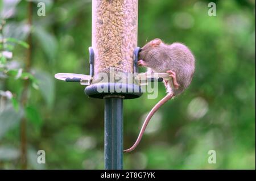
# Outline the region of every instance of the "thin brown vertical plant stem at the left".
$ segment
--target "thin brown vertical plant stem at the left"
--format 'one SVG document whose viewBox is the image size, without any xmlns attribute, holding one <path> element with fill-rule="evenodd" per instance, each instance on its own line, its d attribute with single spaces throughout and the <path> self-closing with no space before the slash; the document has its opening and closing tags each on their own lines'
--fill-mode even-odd
<svg viewBox="0 0 256 181">
<path fill-rule="evenodd" d="M 28 2 L 28 25 L 32 26 L 32 2 Z M 32 37 L 31 37 L 31 30 L 28 34 L 28 49 L 27 49 L 27 60 L 26 60 L 26 71 L 30 71 L 31 68 L 31 54 L 32 54 Z M 27 100 L 28 100 L 28 86 L 29 81 L 24 81 L 24 89 L 22 92 L 22 106 L 26 107 Z M 27 120 L 26 117 L 23 117 L 20 122 L 20 162 L 21 168 L 27 169 Z"/>
</svg>

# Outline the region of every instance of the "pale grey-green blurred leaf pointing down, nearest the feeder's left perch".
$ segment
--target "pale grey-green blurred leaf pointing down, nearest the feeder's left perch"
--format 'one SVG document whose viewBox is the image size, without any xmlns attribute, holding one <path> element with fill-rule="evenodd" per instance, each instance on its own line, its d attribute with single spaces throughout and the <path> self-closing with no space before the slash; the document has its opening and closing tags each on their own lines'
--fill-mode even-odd
<svg viewBox="0 0 256 181">
<path fill-rule="evenodd" d="M 44 72 L 36 71 L 35 78 L 38 80 L 38 87 L 44 100 L 46 100 L 47 106 L 51 108 L 55 99 L 55 82 L 53 81 L 53 75 Z"/>
</svg>

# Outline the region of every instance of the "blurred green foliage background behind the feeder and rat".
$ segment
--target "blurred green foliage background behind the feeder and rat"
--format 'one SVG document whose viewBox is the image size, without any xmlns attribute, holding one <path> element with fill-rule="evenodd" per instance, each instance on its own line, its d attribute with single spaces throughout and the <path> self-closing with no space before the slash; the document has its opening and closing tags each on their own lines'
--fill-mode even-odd
<svg viewBox="0 0 256 181">
<path fill-rule="evenodd" d="M 54 78 L 89 74 L 92 2 L 31 2 L 30 28 L 28 1 L 0 1 L 0 169 L 104 169 L 104 101 Z M 46 16 L 37 15 L 39 2 Z M 208 15 L 209 2 L 217 16 Z M 138 148 L 124 154 L 124 169 L 255 169 L 255 1 L 139 0 L 138 46 L 155 37 L 191 48 L 196 72 L 189 89 L 156 113 Z M 165 95 L 159 89 L 157 99 L 124 101 L 124 148 Z M 20 161 L 26 142 L 27 166 Z M 36 162 L 38 150 L 46 164 Z M 216 164 L 208 163 L 209 150 Z"/>
</svg>

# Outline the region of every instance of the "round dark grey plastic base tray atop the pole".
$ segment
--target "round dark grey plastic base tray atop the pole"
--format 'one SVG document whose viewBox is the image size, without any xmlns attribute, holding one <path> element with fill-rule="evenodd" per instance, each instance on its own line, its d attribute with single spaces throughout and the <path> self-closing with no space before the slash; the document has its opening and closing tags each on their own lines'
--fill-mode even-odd
<svg viewBox="0 0 256 181">
<path fill-rule="evenodd" d="M 104 88 L 104 89 L 103 89 Z M 118 88 L 120 90 L 118 90 Z M 100 92 L 99 92 L 100 91 Z M 135 99 L 142 96 L 141 87 L 135 84 L 125 83 L 95 83 L 89 85 L 84 90 L 85 94 L 91 98 L 104 99 L 105 96 L 123 96 L 123 99 Z"/>
</svg>

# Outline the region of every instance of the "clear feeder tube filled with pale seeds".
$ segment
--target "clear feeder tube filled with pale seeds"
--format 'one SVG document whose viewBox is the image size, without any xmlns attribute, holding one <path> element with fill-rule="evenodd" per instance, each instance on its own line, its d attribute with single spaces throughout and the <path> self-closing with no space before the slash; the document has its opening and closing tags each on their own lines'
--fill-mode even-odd
<svg viewBox="0 0 256 181">
<path fill-rule="evenodd" d="M 137 47 L 138 0 L 92 1 L 94 80 L 98 73 L 133 73 Z"/>
</svg>

